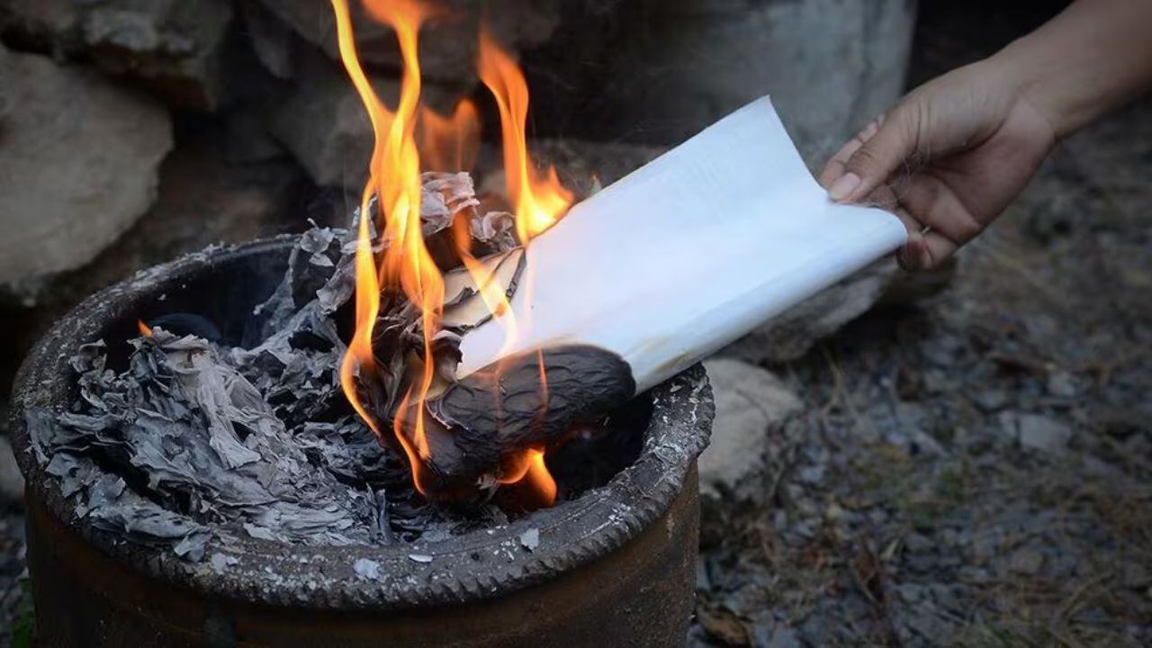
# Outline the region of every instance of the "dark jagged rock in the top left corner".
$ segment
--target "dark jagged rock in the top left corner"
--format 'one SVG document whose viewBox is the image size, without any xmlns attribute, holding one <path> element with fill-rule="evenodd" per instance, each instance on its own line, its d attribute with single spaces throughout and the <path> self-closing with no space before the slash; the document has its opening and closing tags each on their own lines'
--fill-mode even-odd
<svg viewBox="0 0 1152 648">
<path fill-rule="evenodd" d="M 0 33 L 24 48 L 91 59 L 166 101 L 214 110 L 226 95 L 228 0 L 9 0 Z"/>
</svg>

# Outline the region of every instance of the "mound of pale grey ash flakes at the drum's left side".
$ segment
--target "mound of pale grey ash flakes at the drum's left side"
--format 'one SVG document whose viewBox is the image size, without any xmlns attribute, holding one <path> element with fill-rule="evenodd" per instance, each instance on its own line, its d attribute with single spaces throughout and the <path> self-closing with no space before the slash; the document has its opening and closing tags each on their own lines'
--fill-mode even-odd
<svg viewBox="0 0 1152 648">
<path fill-rule="evenodd" d="M 119 375 L 101 345 L 74 359 L 84 413 L 26 414 L 47 472 L 93 523 L 191 559 L 210 526 L 304 544 L 374 540 L 374 499 L 310 461 L 219 348 L 162 329 L 131 344 Z"/>
</svg>

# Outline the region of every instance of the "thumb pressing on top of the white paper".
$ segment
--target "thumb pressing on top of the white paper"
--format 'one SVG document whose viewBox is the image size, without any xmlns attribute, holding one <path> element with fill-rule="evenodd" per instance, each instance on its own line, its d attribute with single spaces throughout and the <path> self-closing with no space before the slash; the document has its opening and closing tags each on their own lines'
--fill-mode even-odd
<svg viewBox="0 0 1152 648">
<path fill-rule="evenodd" d="M 836 157 L 848 159 L 828 196 L 836 202 L 856 202 L 882 184 L 916 150 L 916 114 L 902 104 L 841 149 Z"/>
</svg>

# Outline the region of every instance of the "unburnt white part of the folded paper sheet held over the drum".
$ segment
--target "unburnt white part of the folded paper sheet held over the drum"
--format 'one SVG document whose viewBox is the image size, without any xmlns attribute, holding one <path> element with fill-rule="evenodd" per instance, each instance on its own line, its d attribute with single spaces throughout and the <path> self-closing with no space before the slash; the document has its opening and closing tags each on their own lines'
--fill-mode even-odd
<svg viewBox="0 0 1152 648">
<path fill-rule="evenodd" d="M 588 344 L 646 390 L 893 251 L 904 226 L 828 201 L 767 97 L 589 199 L 528 246 L 507 318 L 469 331 L 464 377 Z"/>
</svg>

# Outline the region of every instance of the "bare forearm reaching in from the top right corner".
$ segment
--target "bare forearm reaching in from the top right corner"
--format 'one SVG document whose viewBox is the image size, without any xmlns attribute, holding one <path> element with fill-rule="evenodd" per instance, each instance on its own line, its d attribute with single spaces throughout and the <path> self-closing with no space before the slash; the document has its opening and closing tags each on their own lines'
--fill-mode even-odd
<svg viewBox="0 0 1152 648">
<path fill-rule="evenodd" d="M 986 63 L 1063 137 L 1152 89 L 1152 0 L 1077 0 Z"/>
</svg>

